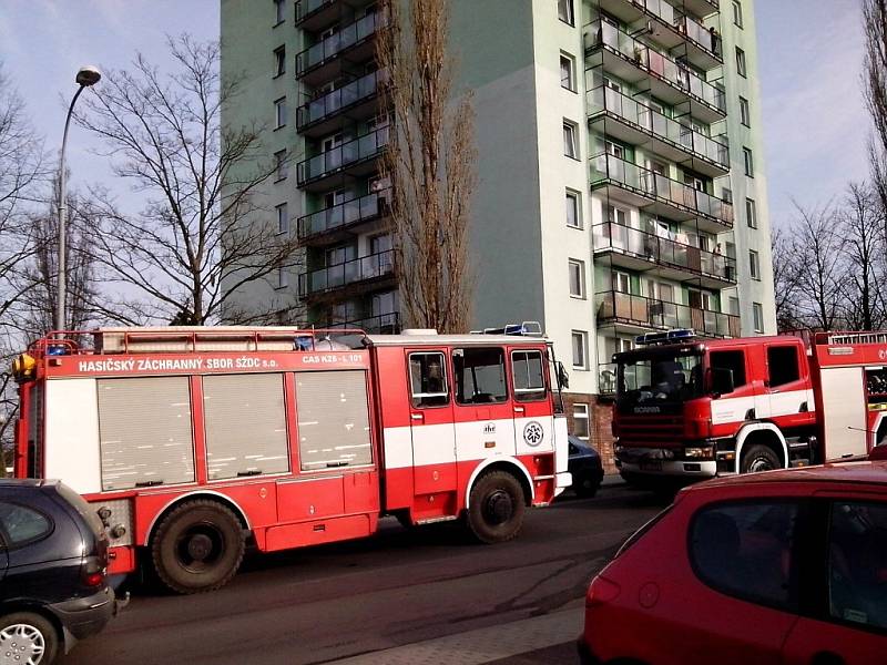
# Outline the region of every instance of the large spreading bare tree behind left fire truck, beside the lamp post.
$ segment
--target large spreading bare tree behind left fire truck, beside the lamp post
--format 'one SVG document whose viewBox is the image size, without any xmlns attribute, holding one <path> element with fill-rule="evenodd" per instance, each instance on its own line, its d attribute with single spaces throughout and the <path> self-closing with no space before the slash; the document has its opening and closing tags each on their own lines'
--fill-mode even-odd
<svg viewBox="0 0 887 665">
<path fill-rule="evenodd" d="M 277 233 L 256 193 L 276 164 L 263 154 L 259 127 L 220 126 L 222 105 L 243 90 L 241 79 L 222 80 L 218 44 L 183 35 L 169 47 L 173 73 L 161 75 L 139 54 L 132 70 L 108 71 L 77 115 L 116 175 L 146 198 L 131 212 L 93 192 L 102 219 L 93 257 L 121 290 L 103 314 L 129 324 L 264 320 L 281 303 L 242 306 L 236 295 L 294 260 L 296 241 Z"/>
</svg>

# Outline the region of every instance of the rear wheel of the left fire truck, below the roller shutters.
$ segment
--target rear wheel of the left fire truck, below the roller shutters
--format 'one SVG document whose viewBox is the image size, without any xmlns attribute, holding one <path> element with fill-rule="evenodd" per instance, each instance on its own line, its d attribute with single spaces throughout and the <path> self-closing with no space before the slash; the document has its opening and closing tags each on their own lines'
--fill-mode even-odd
<svg viewBox="0 0 887 665">
<path fill-rule="evenodd" d="M 151 560 L 160 581 L 176 593 L 227 584 L 243 561 L 243 529 L 232 510 L 207 499 L 176 505 L 154 532 Z"/>
</svg>

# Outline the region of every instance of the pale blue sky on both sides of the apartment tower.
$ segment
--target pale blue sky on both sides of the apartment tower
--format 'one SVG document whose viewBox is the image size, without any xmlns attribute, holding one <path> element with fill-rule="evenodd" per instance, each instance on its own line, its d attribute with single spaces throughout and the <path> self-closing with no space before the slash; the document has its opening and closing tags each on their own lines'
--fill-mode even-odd
<svg viewBox="0 0 887 665">
<path fill-rule="evenodd" d="M 822 205 L 840 196 L 847 182 L 867 176 L 870 122 L 859 79 L 859 3 L 755 1 L 774 226 L 792 218 L 793 198 L 808 207 Z M 218 0 L 0 0 L 0 61 L 24 99 L 33 126 L 45 136 L 47 150 L 55 152 L 81 65 L 122 69 L 141 51 L 162 68 L 170 62 L 166 34 L 187 31 L 201 40 L 217 38 L 218 4 Z M 91 155 L 91 146 L 90 137 L 72 127 L 68 163 L 73 187 L 110 178 L 108 163 Z"/>
</svg>

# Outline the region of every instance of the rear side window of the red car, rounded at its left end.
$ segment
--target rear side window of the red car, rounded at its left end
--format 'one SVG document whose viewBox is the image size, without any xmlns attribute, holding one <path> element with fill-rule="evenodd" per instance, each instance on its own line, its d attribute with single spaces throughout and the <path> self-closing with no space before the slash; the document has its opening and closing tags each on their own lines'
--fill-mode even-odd
<svg viewBox="0 0 887 665">
<path fill-rule="evenodd" d="M 792 550 L 798 504 L 789 501 L 717 503 L 701 509 L 690 526 L 696 575 L 727 595 L 795 611 Z"/>
</svg>

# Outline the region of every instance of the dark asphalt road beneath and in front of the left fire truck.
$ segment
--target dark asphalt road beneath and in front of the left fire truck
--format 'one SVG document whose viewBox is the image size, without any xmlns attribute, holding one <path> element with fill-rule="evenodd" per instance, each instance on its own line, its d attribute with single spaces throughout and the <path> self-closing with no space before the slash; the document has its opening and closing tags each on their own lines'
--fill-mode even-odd
<svg viewBox="0 0 887 665">
<path fill-rule="evenodd" d="M 661 508 L 651 494 L 609 485 L 594 499 L 528 511 L 514 541 L 491 546 L 455 524 L 406 530 L 385 520 L 370 539 L 249 556 L 216 592 L 139 591 L 62 663 L 307 664 L 358 654 L 381 663 L 373 652 L 581 607 L 591 576 Z M 569 634 L 580 630 L 577 622 Z M 497 662 L 574 654 L 570 643 L 548 644 Z"/>
</svg>

